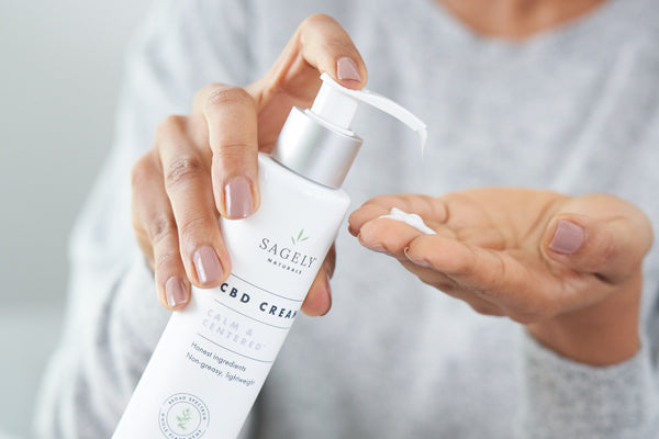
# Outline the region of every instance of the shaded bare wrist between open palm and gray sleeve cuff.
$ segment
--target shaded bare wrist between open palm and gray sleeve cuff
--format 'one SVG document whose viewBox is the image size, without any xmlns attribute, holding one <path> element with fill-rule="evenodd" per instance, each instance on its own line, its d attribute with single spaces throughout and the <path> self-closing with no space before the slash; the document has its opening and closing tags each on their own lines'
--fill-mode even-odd
<svg viewBox="0 0 659 439">
<path fill-rule="evenodd" d="M 640 348 L 641 275 L 594 305 L 526 325 L 540 344 L 573 361 L 604 367 L 634 357 Z"/>
</svg>

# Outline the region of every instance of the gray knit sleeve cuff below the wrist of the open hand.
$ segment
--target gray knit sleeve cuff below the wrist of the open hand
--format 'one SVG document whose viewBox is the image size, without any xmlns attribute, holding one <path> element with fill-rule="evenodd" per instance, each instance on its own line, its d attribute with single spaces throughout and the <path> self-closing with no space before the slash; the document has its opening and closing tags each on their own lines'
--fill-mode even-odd
<svg viewBox="0 0 659 439">
<path fill-rule="evenodd" d="M 526 331 L 523 337 L 518 438 L 659 437 L 657 371 L 648 344 L 624 363 L 596 368 L 558 356 Z"/>
</svg>

